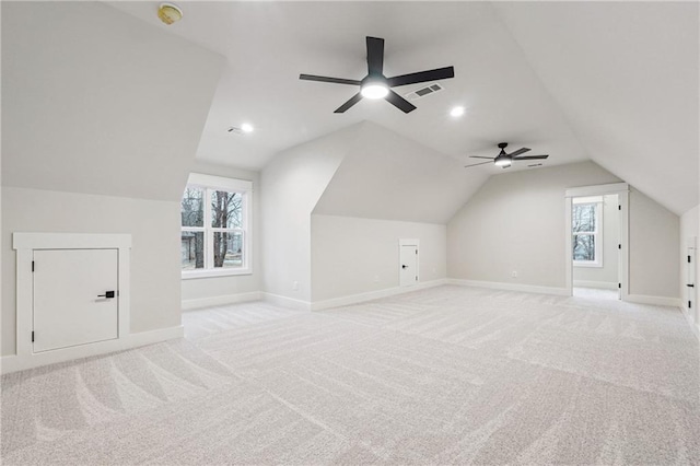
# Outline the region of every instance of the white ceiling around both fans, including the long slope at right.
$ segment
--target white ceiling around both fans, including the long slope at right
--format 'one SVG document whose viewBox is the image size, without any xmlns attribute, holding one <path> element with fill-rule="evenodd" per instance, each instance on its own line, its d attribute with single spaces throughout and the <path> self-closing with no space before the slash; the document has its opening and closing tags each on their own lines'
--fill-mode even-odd
<svg viewBox="0 0 700 466">
<path fill-rule="evenodd" d="M 228 58 L 200 160 L 261 170 L 370 120 L 465 164 L 508 141 L 549 165 L 592 159 L 676 213 L 698 203 L 695 2 L 177 3 L 185 15 L 172 26 L 159 2 L 109 4 Z M 452 65 L 456 77 L 408 115 L 383 101 L 334 114 L 357 90 L 299 74 L 362 79 L 368 35 L 386 39 L 387 75 Z M 467 114 L 450 117 L 453 105 Z M 244 121 L 256 131 L 226 132 Z"/>
</svg>

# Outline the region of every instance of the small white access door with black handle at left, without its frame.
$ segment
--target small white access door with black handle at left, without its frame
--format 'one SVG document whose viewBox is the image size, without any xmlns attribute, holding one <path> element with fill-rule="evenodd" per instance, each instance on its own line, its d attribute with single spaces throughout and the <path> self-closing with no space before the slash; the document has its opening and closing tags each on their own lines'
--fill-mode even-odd
<svg viewBox="0 0 700 466">
<path fill-rule="evenodd" d="M 118 249 L 35 249 L 34 352 L 118 337 Z"/>
</svg>

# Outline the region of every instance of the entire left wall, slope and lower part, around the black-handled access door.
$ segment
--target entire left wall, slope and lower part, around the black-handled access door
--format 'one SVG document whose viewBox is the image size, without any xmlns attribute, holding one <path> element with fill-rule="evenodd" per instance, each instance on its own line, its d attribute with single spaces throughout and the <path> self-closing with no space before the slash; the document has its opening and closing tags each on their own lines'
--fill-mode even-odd
<svg viewBox="0 0 700 466">
<path fill-rule="evenodd" d="M 129 233 L 131 333 L 177 327 L 179 198 L 222 58 L 98 2 L 2 2 L 2 354 L 12 233 Z"/>
</svg>

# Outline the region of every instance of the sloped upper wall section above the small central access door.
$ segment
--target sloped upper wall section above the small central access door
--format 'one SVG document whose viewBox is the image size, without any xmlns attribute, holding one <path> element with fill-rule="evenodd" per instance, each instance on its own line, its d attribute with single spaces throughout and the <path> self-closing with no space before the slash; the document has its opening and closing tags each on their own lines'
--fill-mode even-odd
<svg viewBox="0 0 700 466">
<path fill-rule="evenodd" d="M 314 213 L 446 223 L 487 177 L 481 171 L 465 170 L 464 162 L 364 121 Z"/>
</svg>

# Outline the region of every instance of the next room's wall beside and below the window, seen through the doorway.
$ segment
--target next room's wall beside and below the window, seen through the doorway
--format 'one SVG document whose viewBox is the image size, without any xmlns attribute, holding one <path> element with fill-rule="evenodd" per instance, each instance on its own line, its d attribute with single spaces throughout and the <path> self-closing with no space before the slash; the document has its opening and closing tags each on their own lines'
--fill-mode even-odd
<svg viewBox="0 0 700 466">
<path fill-rule="evenodd" d="M 618 196 L 603 196 L 603 267 L 573 266 L 574 287 L 617 289 L 619 270 L 620 212 Z"/>
</svg>

